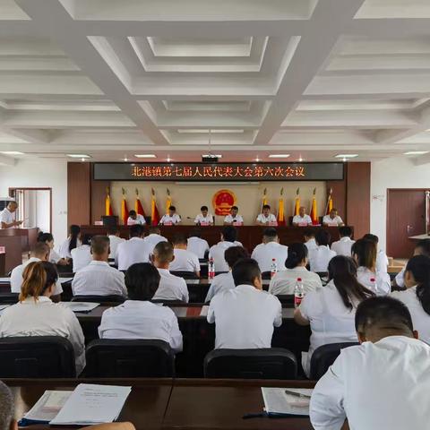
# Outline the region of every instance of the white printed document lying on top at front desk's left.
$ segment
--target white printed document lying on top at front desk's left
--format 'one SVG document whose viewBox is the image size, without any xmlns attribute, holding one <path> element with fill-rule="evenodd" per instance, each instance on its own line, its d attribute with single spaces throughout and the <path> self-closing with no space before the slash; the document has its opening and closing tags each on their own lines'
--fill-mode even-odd
<svg viewBox="0 0 430 430">
<path fill-rule="evenodd" d="M 132 387 L 80 383 L 49 423 L 56 426 L 91 426 L 112 423 L 121 413 Z"/>
</svg>

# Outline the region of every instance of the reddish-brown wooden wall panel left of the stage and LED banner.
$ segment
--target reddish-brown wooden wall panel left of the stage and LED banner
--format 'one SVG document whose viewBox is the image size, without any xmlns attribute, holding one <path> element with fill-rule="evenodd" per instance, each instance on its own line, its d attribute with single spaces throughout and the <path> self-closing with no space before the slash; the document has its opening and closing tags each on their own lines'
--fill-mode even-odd
<svg viewBox="0 0 430 430">
<path fill-rule="evenodd" d="M 90 224 L 90 163 L 67 163 L 67 223 Z"/>
</svg>

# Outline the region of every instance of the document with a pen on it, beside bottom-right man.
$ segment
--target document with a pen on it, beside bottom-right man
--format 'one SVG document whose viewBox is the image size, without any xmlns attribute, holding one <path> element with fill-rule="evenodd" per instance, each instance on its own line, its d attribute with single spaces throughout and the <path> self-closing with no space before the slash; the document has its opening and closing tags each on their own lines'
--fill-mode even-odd
<svg viewBox="0 0 430 430">
<path fill-rule="evenodd" d="M 262 387 L 264 409 L 271 417 L 309 416 L 311 389 Z"/>
</svg>

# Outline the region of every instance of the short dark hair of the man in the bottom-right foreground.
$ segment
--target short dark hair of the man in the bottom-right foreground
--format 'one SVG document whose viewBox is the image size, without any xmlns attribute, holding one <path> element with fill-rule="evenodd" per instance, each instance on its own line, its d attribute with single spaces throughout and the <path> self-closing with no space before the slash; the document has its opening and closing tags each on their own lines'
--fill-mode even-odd
<svg viewBox="0 0 430 430">
<path fill-rule="evenodd" d="M 389 296 L 367 298 L 357 306 L 356 331 L 369 328 L 414 331 L 408 306 Z"/>
</svg>

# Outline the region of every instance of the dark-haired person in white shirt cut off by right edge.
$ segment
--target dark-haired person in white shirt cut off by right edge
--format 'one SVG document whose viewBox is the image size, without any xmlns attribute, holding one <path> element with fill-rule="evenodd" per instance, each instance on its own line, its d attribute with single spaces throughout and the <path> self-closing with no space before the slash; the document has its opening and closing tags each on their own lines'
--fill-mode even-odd
<svg viewBox="0 0 430 430">
<path fill-rule="evenodd" d="M 405 291 L 394 291 L 391 297 L 408 306 L 419 339 L 430 345 L 430 258 L 412 257 L 405 270 Z"/>
</svg>

